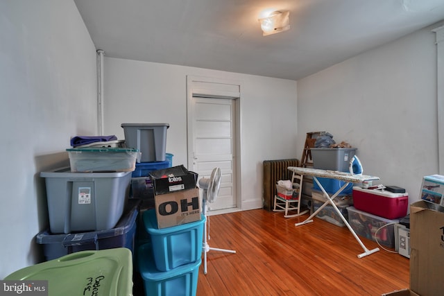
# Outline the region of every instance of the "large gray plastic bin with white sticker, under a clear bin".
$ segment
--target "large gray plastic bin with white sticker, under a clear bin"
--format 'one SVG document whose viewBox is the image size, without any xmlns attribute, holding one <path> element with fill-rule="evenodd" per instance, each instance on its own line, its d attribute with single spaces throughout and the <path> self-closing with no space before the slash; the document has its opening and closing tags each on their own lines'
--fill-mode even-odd
<svg viewBox="0 0 444 296">
<path fill-rule="evenodd" d="M 69 167 L 40 173 L 46 183 L 51 233 L 113 228 L 123 214 L 131 173 L 71 173 Z"/>
</svg>

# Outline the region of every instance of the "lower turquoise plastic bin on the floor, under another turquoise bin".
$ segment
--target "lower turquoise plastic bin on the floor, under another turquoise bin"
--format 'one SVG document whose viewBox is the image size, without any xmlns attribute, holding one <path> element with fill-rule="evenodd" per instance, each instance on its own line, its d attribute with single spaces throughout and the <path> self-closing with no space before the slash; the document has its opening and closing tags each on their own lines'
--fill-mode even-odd
<svg viewBox="0 0 444 296">
<path fill-rule="evenodd" d="M 144 280 L 145 295 L 194 296 L 197 292 L 199 266 L 202 259 L 169 271 L 157 270 L 149 244 L 138 250 L 139 272 Z"/>
</svg>

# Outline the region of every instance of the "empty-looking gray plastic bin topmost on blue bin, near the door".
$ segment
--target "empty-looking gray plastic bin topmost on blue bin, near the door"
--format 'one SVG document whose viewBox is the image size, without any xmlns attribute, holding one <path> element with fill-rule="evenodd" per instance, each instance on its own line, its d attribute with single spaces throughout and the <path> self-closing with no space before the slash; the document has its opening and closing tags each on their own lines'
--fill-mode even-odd
<svg viewBox="0 0 444 296">
<path fill-rule="evenodd" d="M 122 123 L 126 147 L 142 153 L 140 162 L 164 162 L 169 123 Z"/>
</svg>

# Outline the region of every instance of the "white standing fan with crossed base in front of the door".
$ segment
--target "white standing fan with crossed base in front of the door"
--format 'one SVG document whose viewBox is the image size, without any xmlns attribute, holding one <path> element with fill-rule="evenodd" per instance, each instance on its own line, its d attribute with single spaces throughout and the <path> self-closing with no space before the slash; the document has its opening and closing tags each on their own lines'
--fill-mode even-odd
<svg viewBox="0 0 444 296">
<path fill-rule="evenodd" d="M 217 195 L 219 193 L 219 188 L 221 187 L 221 168 L 214 168 L 210 178 L 201 178 L 199 180 L 199 187 L 203 189 L 202 191 L 202 203 L 203 203 L 203 215 L 205 216 L 205 229 L 203 232 L 203 273 L 207 274 L 207 252 L 210 250 L 220 251 L 220 252 L 228 252 L 228 253 L 236 253 L 234 250 L 225 250 L 218 249 L 216 247 L 210 247 L 207 243 L 207 239 L 210 239 L 210 226 L 209 225 L 209 217 L 207 217 L 208 210 L 208 202 L 214 202 L 216 200 Z"/>
</svg>

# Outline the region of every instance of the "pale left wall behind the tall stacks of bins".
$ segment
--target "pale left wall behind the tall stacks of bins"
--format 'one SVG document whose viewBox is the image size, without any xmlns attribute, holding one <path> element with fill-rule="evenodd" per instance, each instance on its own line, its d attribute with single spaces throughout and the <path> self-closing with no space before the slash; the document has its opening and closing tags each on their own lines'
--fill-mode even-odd
<svg viewBox="0 0 444 296">
<path fill-rule="evenodd" d="M 96 52 L 74 1 L 0 1 L 0 279 L 40 261 L 40 171 L 96 133 Z"/>
</svg>

